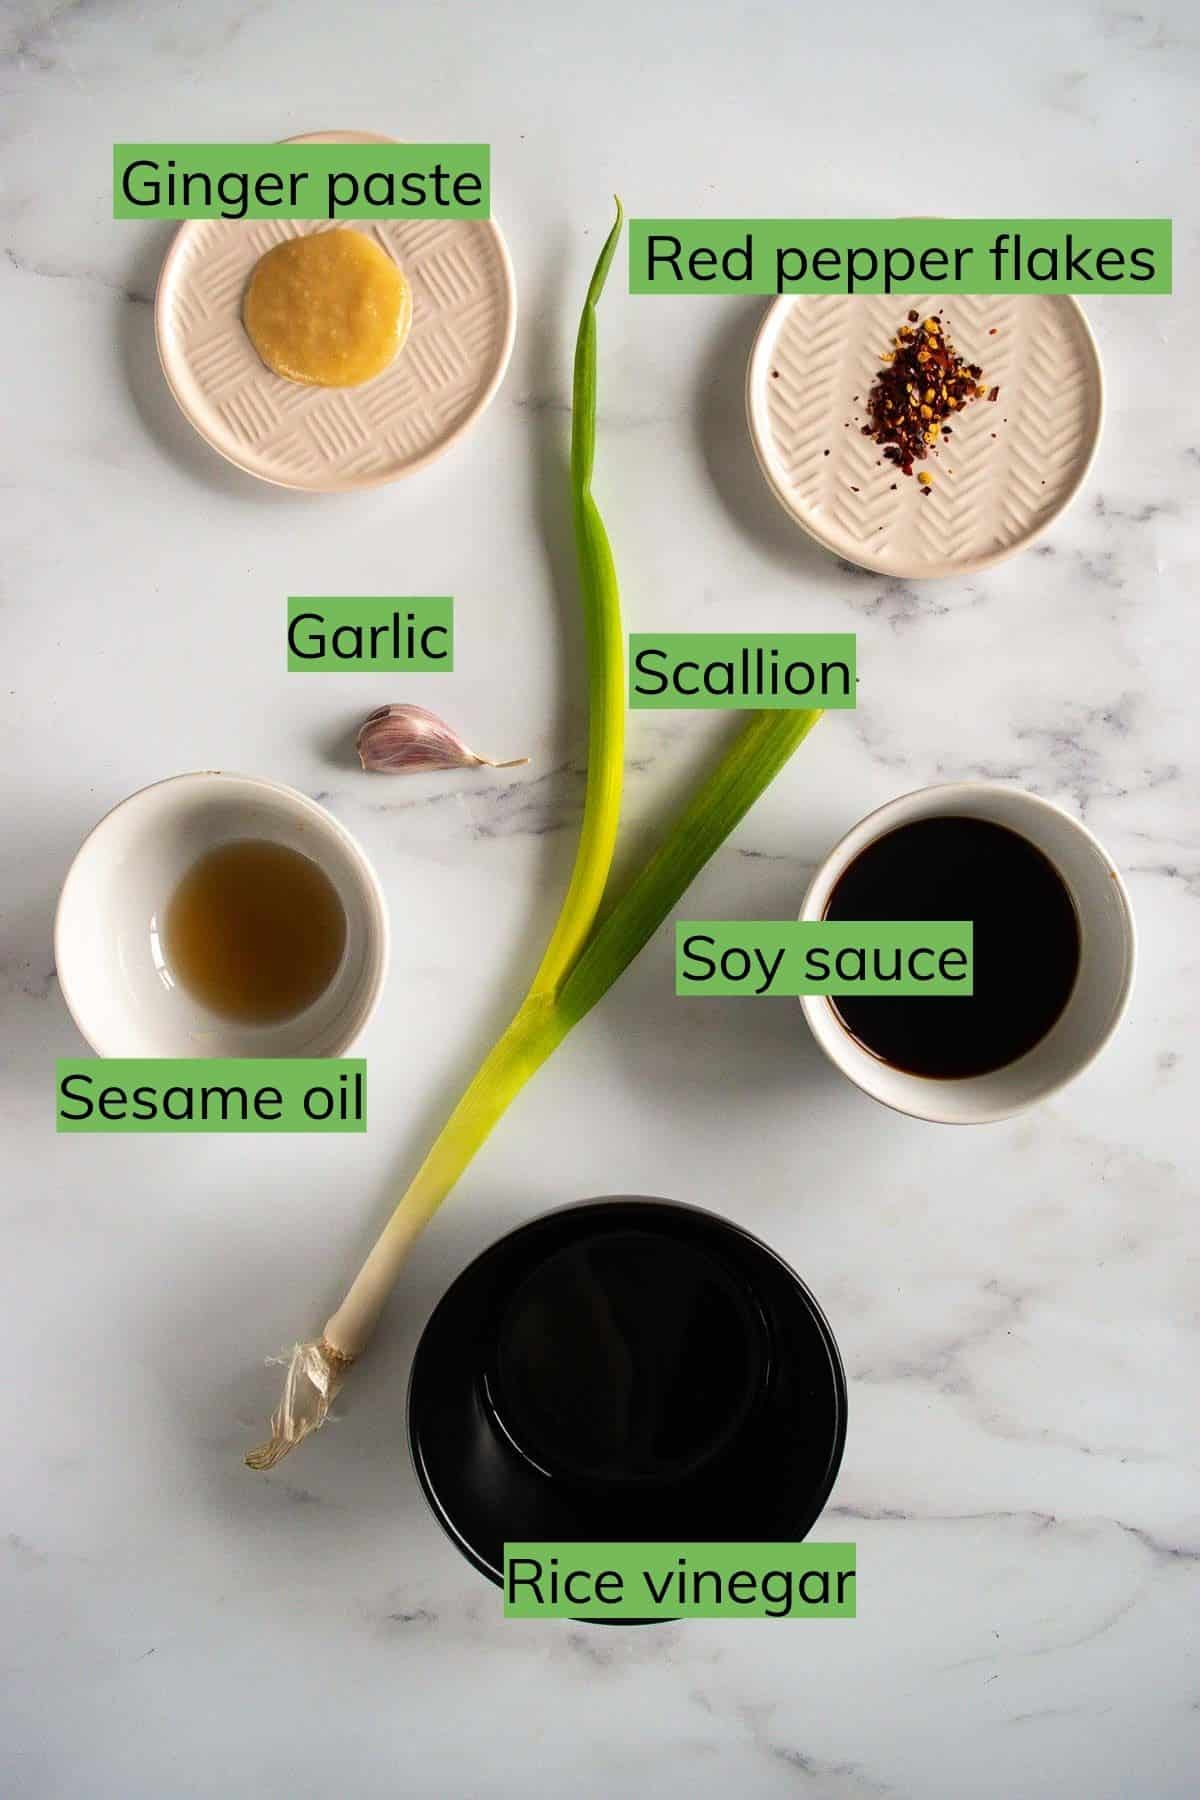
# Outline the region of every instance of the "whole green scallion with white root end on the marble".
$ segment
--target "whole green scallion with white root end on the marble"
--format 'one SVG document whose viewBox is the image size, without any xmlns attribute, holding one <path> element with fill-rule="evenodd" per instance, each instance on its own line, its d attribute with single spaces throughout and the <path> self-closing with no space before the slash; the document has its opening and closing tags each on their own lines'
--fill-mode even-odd
<svg viewBox="0 0 1200 1800">
<path fill-rule="evenodd" d="M 493 1044 L 401 1195 L 345 1300 L 317 1341 L 297 1345 L 266 1444 L 246 1456 L 270 1469 L 324 1424 L 371 1341 L 412 1244 L 531 1075 L 558 1049 L 649 941 L 709 857 L 779 774 L 819 711 L 754 713 L 658 850 L 610 895 L 624 772 L 624 634 L 608 533 L 592 495 L 596 459 L 596 308 L 621 238 L 617 216 L 596 263 L 576 340 L 570 499 L 588 657 L 588 776 L 567 896 L 525 999 Z"/>
</svg>

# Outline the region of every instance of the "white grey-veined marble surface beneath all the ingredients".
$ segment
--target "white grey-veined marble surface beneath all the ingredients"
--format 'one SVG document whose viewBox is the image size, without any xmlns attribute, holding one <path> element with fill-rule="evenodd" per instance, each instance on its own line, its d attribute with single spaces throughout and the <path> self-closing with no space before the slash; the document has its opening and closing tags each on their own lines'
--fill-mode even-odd
<svg viewBox="0 0 1200 1800">
<path fill-rule="evenodd" d="M 5 0 L 0 31 L 0 1789 L 1195 1793 L 1193 9 Z M 327 126 L 489 139 L 522 317 L 468 441 L 322 500 L 193 436 L 151 333 L 169 227 L 108 214 L 113 139 Z M 954 1132 L 840 1082 L 788 1003 L 676 1003 L 660 934 L 426 1233 L 340 1422 L 252 1476 L 263 1359 L 338 1298 L 570 862 L 561 454 L 613 189 L 651 216 L 1177 216 L 1177 297 L 1090 306 L 1108 423 L 1087 491 L 966 581 L 856 574 L 777 511 L 741 412 L 759 302 L 617 281 L 601 320 L 597 490 L 628 625 L 858 632 L 860 709 L 819 727 L 691 916 L 793 913 L 867 808 L 1013 779 L 1124 871 L 1133 1008 L 1049 1105 Z M 453 590 L 453 677 L 286 675 L 295 590 Z M 381 698 L 441 702 L 533 763 L 367 779 L 347 731 Z M 628 844 L 720 731 L 631 716 Z M 52 1058 L 83 1048 L 50 959 L 58 884 L 113 801 L 205 765 L 318 796 L 383 875 L 365 1138 L 54 1136 Z M 851 1429 L 819 1535 L 858 1541 L 855 1624 L 506 1625 L 425 1510 L 403 1395 L 432 1303 L 513 1222 L 604 1192 L 734 1213 L 826 1305 Z"/>
</svg>

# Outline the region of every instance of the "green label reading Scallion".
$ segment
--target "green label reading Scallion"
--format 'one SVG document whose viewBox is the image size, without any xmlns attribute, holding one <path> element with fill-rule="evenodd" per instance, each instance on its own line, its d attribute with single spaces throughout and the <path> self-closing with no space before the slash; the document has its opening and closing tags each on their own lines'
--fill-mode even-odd
<svg viewBox="0 0 1200 1800">
<path fill-rule="evenodd" d="M 630 706 L 851 707 L 855 644 L 853 632 L 630 632 Z"/>
</svg>

